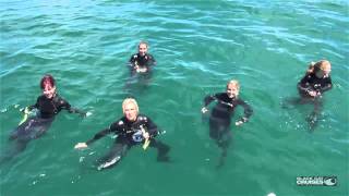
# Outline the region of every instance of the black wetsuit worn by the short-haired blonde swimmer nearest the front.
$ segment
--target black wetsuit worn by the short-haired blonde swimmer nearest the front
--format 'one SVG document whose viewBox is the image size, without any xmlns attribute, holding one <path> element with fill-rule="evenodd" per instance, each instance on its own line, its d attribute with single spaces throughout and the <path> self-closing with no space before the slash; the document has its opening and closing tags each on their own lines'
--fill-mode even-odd
<svg viewBox="0 0 349 196">
<path fill-rule="evenodd" d="M 107 134 L 113 133 L 118 135 L 115 145 L 108 155 L 98 160 L 98 170 L 115 166 L 132 146 L 144 143 L 141 126 L 143 126 L 144 130 L 149 133 L 149 146 L 158 149 L 157 159 L 159 161 L 168 160 L 167 152 L 169 151 L 169 147 L 161 142 L 154 139 L 154 137 L 156 137 L 158 134 L 158 130 L 149 118 L 140 114 L 134 122 L 131 122 L 125 117 L 122 117 L 120 120 L 112 123 L 108 128 L 98 132 L 92 139 L 86 142 L 87 145 L 91 145 Z"/>
</svg>

